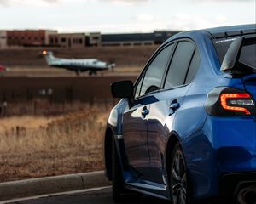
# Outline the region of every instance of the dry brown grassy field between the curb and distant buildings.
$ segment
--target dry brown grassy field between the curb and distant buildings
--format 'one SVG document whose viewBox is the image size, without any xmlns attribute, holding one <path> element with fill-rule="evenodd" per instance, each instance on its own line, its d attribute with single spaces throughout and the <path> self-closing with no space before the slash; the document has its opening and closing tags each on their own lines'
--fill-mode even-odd
<svg viewBox="0 0 256 204">
<path fill-rule="evenodd" d="M 155 49 L 50 49 L 56 57 L 114 61 L 103 77 L 49 68 L 42 48 L 0 50 L 9 69 L 0 76 L 0 182 L 103 169 L 104 129 L 116 102 L 109 84 L 134 81 Z"/>
</svg>

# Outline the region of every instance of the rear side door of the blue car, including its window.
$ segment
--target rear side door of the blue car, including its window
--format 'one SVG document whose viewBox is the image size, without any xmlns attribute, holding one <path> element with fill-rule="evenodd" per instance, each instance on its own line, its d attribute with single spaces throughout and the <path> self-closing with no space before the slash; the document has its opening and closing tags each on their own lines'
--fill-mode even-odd
<svg viewBox="0 0 256 204">
<path fill-rule="evenodd" d="M 183 99 L 199 66 L 199 54 L 193 42 L 180 40 L 166 73 L 163 89 L 155 94 L 159 100 L 150 105 L 148 114 L 148 152 L 154 182 L 167 184 L 166 144 L 172 131 L 177 111 L 183 109 Z M 190 67 L 190 68 L 189 68 Z"/>
</svg>

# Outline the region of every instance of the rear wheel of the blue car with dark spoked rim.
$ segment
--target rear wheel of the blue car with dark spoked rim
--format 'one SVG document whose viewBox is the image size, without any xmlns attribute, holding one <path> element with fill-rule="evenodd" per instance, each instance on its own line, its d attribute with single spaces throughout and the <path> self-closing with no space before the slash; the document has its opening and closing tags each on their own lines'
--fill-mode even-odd
<svg viewBox="0 0 256 204">
<path fill-rule="evenodd" d="M 181 145 L 177 143 L 172 151 L 169 173 L 172 204 L 190 204 L 191 186 Z"/>
</svg>

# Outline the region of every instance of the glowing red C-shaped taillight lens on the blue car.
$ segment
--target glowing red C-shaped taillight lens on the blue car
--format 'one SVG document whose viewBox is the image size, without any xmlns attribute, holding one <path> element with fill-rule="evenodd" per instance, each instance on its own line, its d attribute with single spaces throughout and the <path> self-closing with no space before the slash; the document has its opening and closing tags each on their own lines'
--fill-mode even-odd
<svg viewBox="0 0 256 204">
<path fill-rule="evenodd" d="M 243 105 L 254 105 L 250 94 L 221 94 L 220 103 L 225 110 L 243 111 L 246 115 L 251 115 L 251 112 Z"/>
</svg>

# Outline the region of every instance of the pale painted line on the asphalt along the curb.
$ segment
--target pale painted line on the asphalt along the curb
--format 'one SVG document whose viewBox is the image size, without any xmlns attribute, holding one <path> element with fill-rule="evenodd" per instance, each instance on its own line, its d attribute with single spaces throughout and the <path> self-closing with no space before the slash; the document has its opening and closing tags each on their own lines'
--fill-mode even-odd
<svg viewBox="0 0 256 204">
<path fill-rule="evenodd" d="M 72 194 L 85 193 L 85 192 L 96 191 L 96 190 L 109 189 L 111 187 L 112 186 L 108 185 L 108 186 L 91 188 L 91 189 L 86 189 L 86 190 L 71 190 L 71 191 L 54 193 L 54 194 L 34 195 L 34 196 L 29 196 L 29 197 L 24 197 L 24 198 L 15 198 L 15 199 L 6 200 L 6 201 L 0 201 L 0 204 L 19 202 L 19 201 L 28 201 L 28 200 L 44 198 L 44 197 L 49 197 L 49 196 L 56 196 L 56 195 L 72 195 Z"/>
</svg>

